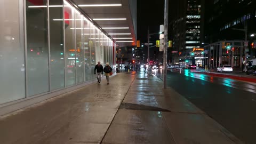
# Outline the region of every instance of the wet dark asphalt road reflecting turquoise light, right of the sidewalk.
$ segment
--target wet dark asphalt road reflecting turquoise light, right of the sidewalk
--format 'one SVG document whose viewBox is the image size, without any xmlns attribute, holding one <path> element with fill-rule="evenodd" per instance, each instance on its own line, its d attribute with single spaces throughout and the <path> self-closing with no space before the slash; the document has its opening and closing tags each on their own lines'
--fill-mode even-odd
<svg viewBox="0 0 256 144">
<path fill-rule="evenodd" d="M 162 78 L 162 71 L 155 75 Z M 168 71 L 172 87 L 245 143 L 256 143 L 256 83 L 236 81 L 190 70 Z"/>
</svg>

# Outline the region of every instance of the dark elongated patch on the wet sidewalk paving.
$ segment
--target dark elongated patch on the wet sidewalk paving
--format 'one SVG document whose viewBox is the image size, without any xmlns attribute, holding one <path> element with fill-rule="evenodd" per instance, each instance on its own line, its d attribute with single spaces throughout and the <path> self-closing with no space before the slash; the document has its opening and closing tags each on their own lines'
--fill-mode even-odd
<svg viewBox="0 0 256 144">
<path fill-rule="evenodd" d="M 121 103 L 119 109 L 133 109 L 133 110 L 149 110 L 149 111 L 170 111 L 163 108 L 152 107 L 152 106 L 145 106 L 145 105 L 138 105 L 134 103 Z"/>
</svg>

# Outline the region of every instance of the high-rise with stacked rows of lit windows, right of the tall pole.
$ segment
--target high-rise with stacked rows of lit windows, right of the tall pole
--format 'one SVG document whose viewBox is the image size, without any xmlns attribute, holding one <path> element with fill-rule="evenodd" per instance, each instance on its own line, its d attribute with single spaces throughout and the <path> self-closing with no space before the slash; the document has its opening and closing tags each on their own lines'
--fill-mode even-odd
<svg viewBox="0 0 256 144">
<path fill-rule="evenodd" d="M 204 41 L 204 0 L 174 1 L 171 10 L 171 38 L 173 39 L 172 64 L 196 63 L 191 51 Z M 202 65 L 202 59 L 197 64 Z"/>
</svg>

